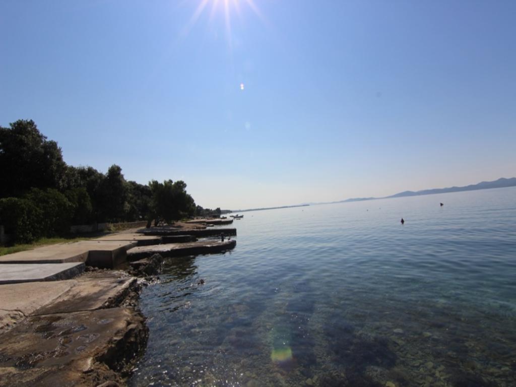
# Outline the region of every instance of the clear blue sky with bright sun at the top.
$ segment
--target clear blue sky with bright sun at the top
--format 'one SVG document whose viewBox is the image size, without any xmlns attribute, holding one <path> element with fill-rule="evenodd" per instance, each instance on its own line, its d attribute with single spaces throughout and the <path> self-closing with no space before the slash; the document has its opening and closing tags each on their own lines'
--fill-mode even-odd
<svg viewBox="0 0 516 387">
<path fill-rule="evenodd" d="M 516 2 L 0 0 L 0 125 L 203 207 L 516 176 Z M 5 173 L 5 172 L 2 172 Z"/>
</svg>

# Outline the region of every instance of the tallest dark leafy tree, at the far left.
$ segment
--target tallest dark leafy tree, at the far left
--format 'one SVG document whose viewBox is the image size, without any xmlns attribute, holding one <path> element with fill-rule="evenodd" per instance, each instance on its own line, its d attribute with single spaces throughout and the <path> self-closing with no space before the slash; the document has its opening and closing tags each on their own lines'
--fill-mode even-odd
<svg viewBox="0 0 516 387">
<path fill-rule="evenodd" d="M 33 120 L 9 126 L 0 126 L 0 197 L 21 196 L 32 187 L 59 188 L 66 164 L 57 142 L 47 140 Z"/>
</svg>

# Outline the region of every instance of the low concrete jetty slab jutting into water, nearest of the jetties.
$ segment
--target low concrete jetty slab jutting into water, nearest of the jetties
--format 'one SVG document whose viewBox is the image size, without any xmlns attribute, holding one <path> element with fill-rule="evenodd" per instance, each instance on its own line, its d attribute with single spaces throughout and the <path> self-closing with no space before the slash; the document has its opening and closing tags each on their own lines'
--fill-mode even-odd
<svg viewBox="0 0 516 387">
<path fill-rule="evenodd" d="M 236 240 L 199 240 L 191 243 L 171 243 L 157 246 L 135 247 L 127 251 L 127 261 L 138 261 L 159 254 L 163 257 L 212 254 L 231 250 L 236 246 Z"/>
</svg>

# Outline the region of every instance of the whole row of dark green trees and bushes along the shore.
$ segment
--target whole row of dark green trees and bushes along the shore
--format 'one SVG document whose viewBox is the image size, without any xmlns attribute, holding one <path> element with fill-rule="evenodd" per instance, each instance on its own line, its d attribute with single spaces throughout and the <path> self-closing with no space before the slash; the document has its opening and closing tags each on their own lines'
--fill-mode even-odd
<svg viewBox="0 0 516 387">
<path fill-rule="evenodd" d="M 183 181 L 126 181 L 122 168 L 102 173 L 67 165 L 57 142 L 47 140 L 32 120 L 0 126 L 0 224 L 14 240 L 66 235 L 71 224 L 171 222 L 192 215 L 220 215 L 220 208 L 195 205 Z"/>
</svg>

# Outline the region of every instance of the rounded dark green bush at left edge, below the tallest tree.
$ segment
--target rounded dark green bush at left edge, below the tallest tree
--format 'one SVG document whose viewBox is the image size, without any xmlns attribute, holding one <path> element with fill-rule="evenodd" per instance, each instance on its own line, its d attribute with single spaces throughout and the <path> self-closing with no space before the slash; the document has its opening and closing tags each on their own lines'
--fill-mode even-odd
<svg viewBox="0 0 516 387">
<path fill-rule="evenodd" d="M 12 243 L 30 243 L 41 236 L 40 209 L 30 200 L 20 198 L 0 199 L 0 223 Z"/>
</svg>

